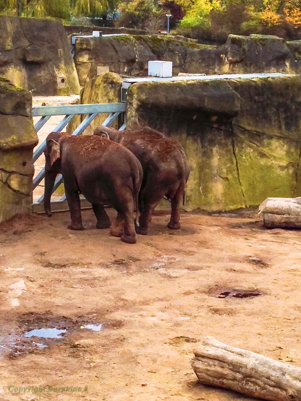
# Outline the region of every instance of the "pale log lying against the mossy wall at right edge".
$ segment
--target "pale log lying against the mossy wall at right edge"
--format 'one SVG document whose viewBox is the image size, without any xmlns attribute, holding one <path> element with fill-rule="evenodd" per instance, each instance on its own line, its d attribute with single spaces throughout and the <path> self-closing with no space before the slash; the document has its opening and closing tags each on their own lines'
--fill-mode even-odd
<svg viewBox="0 0 301 401">
<path fill-rule="evenodd" d="M 268 197 L 259 206 L 268 228 L 301 228 L 301 197 Z"/>
</svg>

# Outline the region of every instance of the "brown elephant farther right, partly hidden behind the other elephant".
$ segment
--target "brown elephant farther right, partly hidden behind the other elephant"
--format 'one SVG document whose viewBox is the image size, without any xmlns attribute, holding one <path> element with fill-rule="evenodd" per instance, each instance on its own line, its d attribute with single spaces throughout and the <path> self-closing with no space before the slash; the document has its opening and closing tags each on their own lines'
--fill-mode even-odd
<svg viewBox="0 0 301 401">
<path fill-rule="evenodd" d="M 168 227 L 179 229 L 180 201 L 185 196 L 185 186 L 190 167 L 183 147 L 175 140 L 149 127 L 117 131 L 99 126 L 94 135 L 105 135 L 129 149 L 140 161 L 143 180 L 139 193 L 139 227 L 136 233 L 146 235 L 153 211 L 166 196 L 171 200 L 172 211 Z"/>
</svg>

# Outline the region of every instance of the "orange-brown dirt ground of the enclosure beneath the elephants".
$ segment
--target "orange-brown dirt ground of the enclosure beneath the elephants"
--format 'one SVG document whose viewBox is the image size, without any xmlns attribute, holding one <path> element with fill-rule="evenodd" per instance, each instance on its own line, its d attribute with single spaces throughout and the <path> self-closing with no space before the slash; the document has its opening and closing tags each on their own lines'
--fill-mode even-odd
<svg viewBox="0 0 301 401">
<path fill-rule="evenodd" d="M 157 213 L 128 245 L 83 219 L 83 232 L 68 213 L 0 225 L 0 399 L 250 401 L 198 384 L 208 335 L 301 366 L 299 231 L 250 212 L 182 214 L 171 231 Z M 26 336 L 42 328 L 58 338 Z"/>
</svg>

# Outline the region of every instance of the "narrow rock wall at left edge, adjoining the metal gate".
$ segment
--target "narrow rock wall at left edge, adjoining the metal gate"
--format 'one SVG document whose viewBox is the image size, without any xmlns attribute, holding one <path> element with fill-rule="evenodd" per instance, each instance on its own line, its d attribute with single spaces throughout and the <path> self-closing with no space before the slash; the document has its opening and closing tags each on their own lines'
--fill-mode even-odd
<svg viewBox="0 0 301 401">
<path fill-rule="evenodd" d="M 32 211 L 38 136 L 31 116 L 31 93 L 0 78 L 0 222 Z"/>
</svg>

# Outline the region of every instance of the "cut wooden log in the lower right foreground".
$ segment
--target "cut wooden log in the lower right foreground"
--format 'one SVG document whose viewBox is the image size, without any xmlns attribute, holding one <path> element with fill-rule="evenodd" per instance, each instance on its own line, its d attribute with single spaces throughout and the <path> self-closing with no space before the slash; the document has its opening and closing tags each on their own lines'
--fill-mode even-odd
<svg viewBox="0 0 301 401">
<path fill-rule="evenodd" d="M 301 400 L 301 368 L 207 337 L 191 361 L 199 381 L 269 401 Z"/>
</svg>

